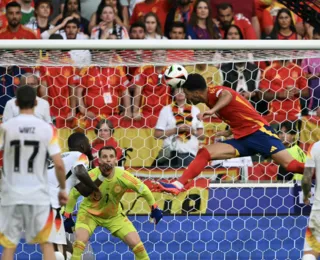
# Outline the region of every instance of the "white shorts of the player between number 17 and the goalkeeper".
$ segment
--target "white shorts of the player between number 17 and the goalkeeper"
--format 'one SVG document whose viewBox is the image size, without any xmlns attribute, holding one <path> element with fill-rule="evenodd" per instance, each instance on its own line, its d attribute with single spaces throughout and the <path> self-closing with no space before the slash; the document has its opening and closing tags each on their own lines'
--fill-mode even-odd
<svg viewBox="0 0 320 260">
<path fill-rule="evenodd" d="M 60 209 L 53 209 L 54 212 L 54 224 L 48 241 L 57 245 L 66 245 L 66 231 L 64 230 L 63 218 L 60 214 Z"/>
</svg>

